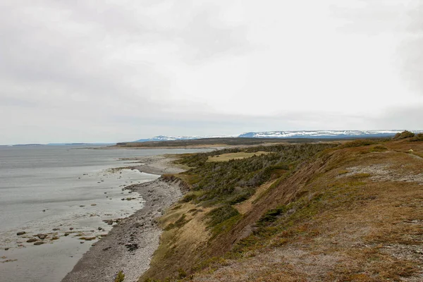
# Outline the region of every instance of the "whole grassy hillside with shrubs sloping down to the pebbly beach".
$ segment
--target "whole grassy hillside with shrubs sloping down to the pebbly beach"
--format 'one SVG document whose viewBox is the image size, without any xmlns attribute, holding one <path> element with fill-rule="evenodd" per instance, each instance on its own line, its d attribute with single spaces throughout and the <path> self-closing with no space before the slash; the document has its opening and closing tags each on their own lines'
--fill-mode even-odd
<svg viewBox="0 0 423 282">
<path fill-rule="evenodd" d="M 185 155 L 140 281 L 422 281 L 421 137 Z"/>
</svg>

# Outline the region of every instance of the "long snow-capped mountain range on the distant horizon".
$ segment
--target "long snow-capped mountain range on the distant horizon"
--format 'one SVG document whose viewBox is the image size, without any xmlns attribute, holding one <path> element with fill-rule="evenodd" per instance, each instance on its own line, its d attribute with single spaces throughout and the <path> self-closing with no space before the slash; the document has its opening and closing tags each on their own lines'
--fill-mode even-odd
<svg viewBox="0 0 423 282">
<path fill-rule="evenodd" d="M 286 130 L 250 132 L 240 135 L 213 135 L 213 136 L 164 136 L 159 135 L 149 139 L 140 139 L 134 142 L 195 140 L 202 138 L 354 138 L 354 137 L 389 137 L 403 130 Z M 412 130 L 414 133 L 423 133 L 422 130 Z"/>
</svg>

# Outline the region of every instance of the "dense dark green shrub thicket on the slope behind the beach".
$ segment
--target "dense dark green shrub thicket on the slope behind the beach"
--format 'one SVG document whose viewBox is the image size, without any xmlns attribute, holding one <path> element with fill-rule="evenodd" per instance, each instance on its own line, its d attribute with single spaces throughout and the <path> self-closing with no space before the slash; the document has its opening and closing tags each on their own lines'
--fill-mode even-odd
<svg viewBox="0 0 423 282">
<path fill-rule="evenodd" d="M 235 204 L 254 195 L 255 188 L 272 178 L 278 178 L 297 164 L 314 156 L 333 144 L 271 145 L 245 149 L 244 152 L 271 152 L 246 159 L 207 162 L 208 157 L 240 152 L 240 149 L 223 149 L 214 152 L 187 155 L 181 164 L 191 167 L 183 173 L 190 188 L 201 191 L 195 196 L 187 195 L 182 202 L 208 202 L 209 204 Z"/>
</svg>

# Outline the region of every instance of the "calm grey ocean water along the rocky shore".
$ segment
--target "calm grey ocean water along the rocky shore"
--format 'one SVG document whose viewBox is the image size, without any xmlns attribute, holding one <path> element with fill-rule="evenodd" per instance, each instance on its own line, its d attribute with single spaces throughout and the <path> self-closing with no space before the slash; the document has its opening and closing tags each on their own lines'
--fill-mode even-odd
<svg viewBox="0 0 423 282">
<path fill-rule="evenodd" d="M 97 240 L 81 237 L 98 238 L 112 228 L 104 220 L 142 208 L 140 195 L 122 188 L 158 176 L 111 171 L 133 165 L 121 158 L 199 151 L 0 147 L 0 281 L 61 281 Z M 39 233 L 48 235 L 43 245 L 27 243 Z"/>
</svg>

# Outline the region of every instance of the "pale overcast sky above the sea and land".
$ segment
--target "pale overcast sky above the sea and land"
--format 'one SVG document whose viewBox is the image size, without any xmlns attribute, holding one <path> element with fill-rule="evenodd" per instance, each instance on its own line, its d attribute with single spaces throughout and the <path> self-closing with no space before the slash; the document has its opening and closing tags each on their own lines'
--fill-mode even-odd
<svg viewBox="0 0 423 282">
<path fill-rule="evenodd" d="M 0 2 L 0 145 L 423 129 L 423 1 Z"/>
</svg>

